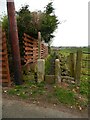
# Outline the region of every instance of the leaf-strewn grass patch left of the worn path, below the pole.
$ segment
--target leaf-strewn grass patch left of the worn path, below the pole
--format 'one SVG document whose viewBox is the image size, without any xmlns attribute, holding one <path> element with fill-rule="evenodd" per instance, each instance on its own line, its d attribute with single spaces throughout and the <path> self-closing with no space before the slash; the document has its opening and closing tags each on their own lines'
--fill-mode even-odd
<svg viewBox="0 0 90 120">
<path fill-rule="evenodd" d="M 44 85 L 44 82 L 35 83 L 34 81 L 27 81 L 25 85 L 15 86 L 9 89 L 8 94 L 17 95 L 24 99 L 30 96 L 35 97 L 36 95 L 43 95 L 45 93 Z"/>
</svg>

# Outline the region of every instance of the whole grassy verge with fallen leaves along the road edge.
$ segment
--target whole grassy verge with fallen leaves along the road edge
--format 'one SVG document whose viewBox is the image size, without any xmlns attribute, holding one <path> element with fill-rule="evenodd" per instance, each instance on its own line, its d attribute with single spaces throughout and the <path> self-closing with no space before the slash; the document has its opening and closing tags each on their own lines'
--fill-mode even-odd
<svg viewBox="0 0 90 120">
<path fill-rule="evenodd" d="M 51 89 L 50 89 L 50 88 Z M 67 104 L 69 106 L 86 106 L 87 100 L 84 101 L 76 99 L 76 93 L 73 91 L 73 87 L 64 88 L 63 86 L 58 87 L 56 84 L 50 85 L 47 87 L 47 84 L 44 82 L 35 83 L 27 82 L 24 85 L 14 86 L 7 91 L 8 95 L 15 95 L 22 99 L 41 99 L 46 100 L 50 103 L 53 103 L 53 100 L 56 103 Z M 84 91 L 84 89 L 83 89 Z M 79 96 L 78 96 L 79 97 Z"/>
</svg>

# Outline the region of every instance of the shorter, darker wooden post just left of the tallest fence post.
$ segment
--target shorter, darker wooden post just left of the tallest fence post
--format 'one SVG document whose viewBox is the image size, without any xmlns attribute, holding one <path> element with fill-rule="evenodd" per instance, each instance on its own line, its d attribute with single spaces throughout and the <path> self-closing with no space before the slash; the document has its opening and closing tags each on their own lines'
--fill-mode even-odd
<svg viewBox="0 0 90 120">
<path fill-rule="evenodd" d="M 70 68 L 70 74 L 71 74 L 71 77 L 74 77 L 75 76 L 75 73 L 74 73 L 74 53 L 70 53 L 70 56 L 69 56 L 69 68 Z"/>
</svg>

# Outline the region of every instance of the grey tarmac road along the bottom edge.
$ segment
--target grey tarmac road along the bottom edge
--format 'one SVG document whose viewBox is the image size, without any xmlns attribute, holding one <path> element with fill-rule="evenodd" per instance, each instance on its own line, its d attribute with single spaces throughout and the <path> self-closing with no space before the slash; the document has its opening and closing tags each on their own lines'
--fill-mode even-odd
<svg viewBox="0 0 90 120">
<path fill-rule="evenodd" d="M 57 109 L 48 105 L 40 106 L 18 99 L 9 99 L 3 96 L 2 99 L 3 118 L 87 118 L 85 113 L 69 111 L 67 108 Z"/>
</svg>

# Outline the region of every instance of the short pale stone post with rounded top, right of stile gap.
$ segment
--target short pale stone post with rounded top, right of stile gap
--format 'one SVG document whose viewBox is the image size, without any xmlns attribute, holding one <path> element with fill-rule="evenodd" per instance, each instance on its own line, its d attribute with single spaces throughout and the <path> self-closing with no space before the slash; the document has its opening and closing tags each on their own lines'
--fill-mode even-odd
<svg viewBox="0 0 90 120">
<path fill-rule="evenodd" d="M 59 59 L 55 60 L 55 81 L 61 83 L 61 70 L 60 70 L 60 61 Z"/>
</svg>

